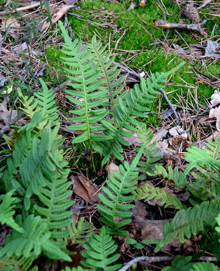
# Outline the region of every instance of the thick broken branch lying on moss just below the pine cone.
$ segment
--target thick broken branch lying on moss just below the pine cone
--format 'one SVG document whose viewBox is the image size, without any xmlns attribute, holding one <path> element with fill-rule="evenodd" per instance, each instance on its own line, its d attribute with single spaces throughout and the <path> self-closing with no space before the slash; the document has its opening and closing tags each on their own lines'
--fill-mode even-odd
<svg viewBox="0 0 220 271">
<path fill-rule="evenodd" d="M 155 26 L 160 26 L 166 29 L 180 29 L 180 30 L 189 30 L 193 32 L 198 32 L 203 36 L 207 36 L 206 29 L 202 28 L 197 23 L 169 23 L 164 20 L 153 20 Z"/>
</svg>

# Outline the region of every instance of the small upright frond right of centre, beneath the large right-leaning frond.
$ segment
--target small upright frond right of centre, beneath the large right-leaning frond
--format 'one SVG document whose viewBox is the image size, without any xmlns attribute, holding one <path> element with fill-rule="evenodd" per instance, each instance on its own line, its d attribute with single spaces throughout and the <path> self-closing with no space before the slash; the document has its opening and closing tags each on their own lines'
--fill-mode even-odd
<svg viewBox="0 0 220 271">
<path fill-rule="evenodd" d="M 154 173 L 152 172 L 152 169 L 155 168 L 156 165 L 162 165 L 161 163 L 156 163 L 158 160 L 161 159 L 162 155 L 155 156 L 158 151 L 160 151 L 160 148 L 155 149 L 155 146 L 157 144 L 157 141 L 155 140 L 153 143 L 150 144 L 152 141 L 154 134 L 152 131 L 150 131 L 150 128 L 146 129 L 146 125 L 140 126 L 137 125 L 137 129 L 139 130 L 137 134 L 140 136 L 138 138 L 141 142 L 139 143 L 140 147 L 145 146 L 145 149 L 143 151 L 143 154 L 146 155 L 146 161 L 139 161 L 138 166 L 138 172 L 143 172 L 140 176 L 137 177 L 137 180 L 143 180 L 146 179 L 147 175 L 154 176 Z M 136 151 L 140 149 L 140 147 L 134 147 Z M 154 150 L 153 150 L 154 149 Z"/>
</svg>

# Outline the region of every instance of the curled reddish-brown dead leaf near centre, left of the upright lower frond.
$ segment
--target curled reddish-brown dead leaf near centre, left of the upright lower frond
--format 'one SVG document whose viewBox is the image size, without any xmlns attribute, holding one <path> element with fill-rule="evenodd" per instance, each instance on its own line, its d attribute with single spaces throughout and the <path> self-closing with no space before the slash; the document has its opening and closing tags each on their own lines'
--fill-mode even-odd
<svg viewBox="0 0 220 271">
<path fill-rule="evenodd" d="M 86 179 L 84 176 L 70 176 L 71 181 L 74 184 L 73 191 L 78 196 L 84 199 L 86 203 L 90 203 L 91 205 L 98 201 L 98 193 L 95 187 Z M 94 195 L 95 194 L 95 195 Z"/>
</svg>

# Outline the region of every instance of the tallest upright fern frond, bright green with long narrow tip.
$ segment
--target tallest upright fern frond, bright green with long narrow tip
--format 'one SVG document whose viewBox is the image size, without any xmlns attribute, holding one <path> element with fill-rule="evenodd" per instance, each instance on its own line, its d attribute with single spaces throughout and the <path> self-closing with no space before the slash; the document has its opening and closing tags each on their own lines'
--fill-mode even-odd
<svg viewBox="0 0 220 271">
<path fill-rule="evenodd" d="M 99 63 L 95 64 L 95 58 L 89 59 L 91 55 L 91 50 L 87 51 L 87 46 L 85 46 L 80 52 L 80 46 L 82 41 L 76 39 L 74 42 L 70 41 L 67 32 L 59 21 L 59 26 L 61 32 L 64 37 L 64 45 L 61 51 L 70 56 L 70 57 L 62 57 L 65 64 L 68 64 L 71 68 L 65 68 L 65 70 L 70 74 L 67 77 L 74 81 L 75 83 L 69 83 L 68 86 L 74 88 L 74 90 L 66 90 L 70 95 L 66 97 L 73 102 L 74 104 L 80 106 L 80 109 L 71 110 L 71 113 L 76 114 L 79 117 L 72 117 L 70 120 L 74 122 L 82 122 L 80 124 L 75 124 L 68 126 L 71 129 L 75 130 L 85 130 L 80 136 L 77 136 L 73 139 L 72 143 L 80 143 L 89 139 L 90 145 L 91 139 L 93 140 L 104 140 L 109 139 L 111 137 L 105 135 L 93 134 L 92 132 L 102 131 L 102 125 L 93 124 L 100 122 L 104 117 L 106 117 L 108 111 L 105 108 L 93 109 L 95 107 L 101 106 L 104 102 L 106 102 L 107 98 L 101 98 L 105 95 L 106 90 L 98 91 L 96 90 L 100 87 L 102 83 L 102 79 L 98 79 L 100 76 L 101 70 L 98 70 Z M 87 63 L 88 62 L 88 63 Z M 81 100 L 74 97 L 79 97 Z"/>
</svg>

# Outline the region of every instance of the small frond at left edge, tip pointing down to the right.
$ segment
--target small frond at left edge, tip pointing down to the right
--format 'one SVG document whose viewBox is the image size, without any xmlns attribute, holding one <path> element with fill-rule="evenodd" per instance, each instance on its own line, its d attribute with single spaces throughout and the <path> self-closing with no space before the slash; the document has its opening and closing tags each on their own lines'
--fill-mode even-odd
<svg viewBox="0 0 220 271">
<path fill-rule="evenodd" d="M 4 199 L 0 204 L 0 222 L 2 224 L 6 223 L 12 229 L 17 230 L 18 232 L 24 232 L 24 229 L 20 228 L 17 223 L 15 223 L 13 215 L 15 214 L 15 210 L 13 209 L 17 202 L 20 201 L 18 198 L 13 198 L 12 195 L 15 192 L 15 189 L 9 191 L 4 195 Z M 2 198 L 2 196 L 1 196 Z"/>
</svg>

